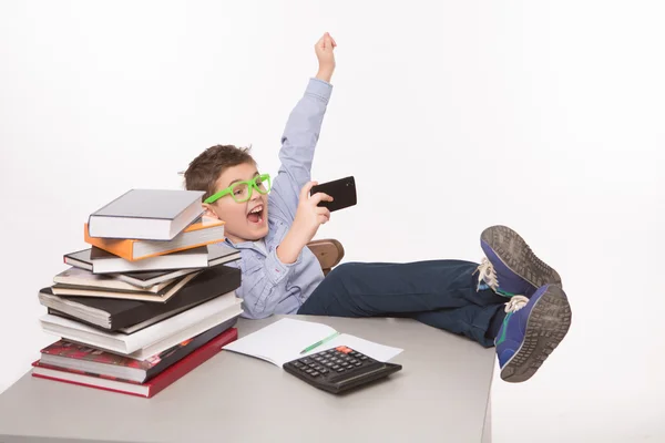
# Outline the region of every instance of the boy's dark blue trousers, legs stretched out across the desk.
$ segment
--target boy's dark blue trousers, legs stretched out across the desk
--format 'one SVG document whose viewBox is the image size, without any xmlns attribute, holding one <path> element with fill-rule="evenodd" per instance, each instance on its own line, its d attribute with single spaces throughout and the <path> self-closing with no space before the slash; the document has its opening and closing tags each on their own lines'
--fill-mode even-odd
<svg viewBox="0 0 665 443">
<path fill-rule="evenodd" d="M 429 260 L 347 262 L 334 268 L 298 310 L 331 317 L 408 317 L 492 347 L 507 298 L 477 290 L 478 264 Z"/>
</svg>

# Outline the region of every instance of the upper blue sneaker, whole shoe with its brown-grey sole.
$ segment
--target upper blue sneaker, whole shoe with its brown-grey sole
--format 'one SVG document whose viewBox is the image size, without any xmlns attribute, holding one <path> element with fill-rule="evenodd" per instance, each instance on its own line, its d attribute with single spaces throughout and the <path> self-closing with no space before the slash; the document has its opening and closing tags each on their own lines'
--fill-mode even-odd
<svg viewBox="0 0 665 443">
<path fill-rule="evenodd" d="M 531 297 L 543 285 L 562 286 L 559 272 L 538 258 L 509 227 L 487 228 L 480 236 L 480 246 L 487 258 L 478 267 L 479 289 L 483 286 L 504 297 Z"/>
</svg>

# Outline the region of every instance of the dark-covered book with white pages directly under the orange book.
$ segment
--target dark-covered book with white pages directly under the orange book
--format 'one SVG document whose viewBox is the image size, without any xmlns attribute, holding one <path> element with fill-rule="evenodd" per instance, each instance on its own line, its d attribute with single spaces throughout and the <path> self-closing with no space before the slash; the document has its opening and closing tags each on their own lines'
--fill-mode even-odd
<svg viewBox="0 0 665 443">
<path fill-rule="evenodd" d="M 241 258 L 239 250 L 219 243 L 136 261 L 125 260 L 93 246 L 89 249 L 66 254 L 63 261 L 65 265 L 88 269 L 93 274 L 120 274 L 142 270 L 201 269 L 238 258 Z"/>
</svg>

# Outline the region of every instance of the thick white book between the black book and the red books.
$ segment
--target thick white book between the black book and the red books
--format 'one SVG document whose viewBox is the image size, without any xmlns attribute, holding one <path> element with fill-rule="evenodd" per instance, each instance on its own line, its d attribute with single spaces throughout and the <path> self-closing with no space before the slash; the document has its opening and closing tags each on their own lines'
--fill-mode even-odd
<svg viewBox="0 0 665 443">
<path fill-rule="evenodd" d="M 105 332 L 48 313 L 40 318 L 40 322 L 44 332 L 59 338 L 145 360 L 241 313 L 242 300 L 231 293 L 228 297 L 216 297 L 132 334 Z"/>
</svg>

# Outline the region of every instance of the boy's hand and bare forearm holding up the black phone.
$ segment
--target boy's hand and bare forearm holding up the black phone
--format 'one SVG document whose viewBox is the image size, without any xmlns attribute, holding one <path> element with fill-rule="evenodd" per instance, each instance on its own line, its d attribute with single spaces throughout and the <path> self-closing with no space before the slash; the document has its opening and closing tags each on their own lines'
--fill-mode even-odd
<svg viewBox="0 0 665 443">
<path fill-rule="evenodd" d="M 277 247 L 277 257 L 284 264 L 293 264 L 305 246 L 314 238 L 319 226 L 328 223 L 330 210 L 320 207 L 320 202 L 332 202 L 332 197 L 325 193 L 309 196 L 309 190 L 316 182 L 309 182 L 300 189 L 300 197 L 296 217 L 290 229 Z"/>
</svg>

